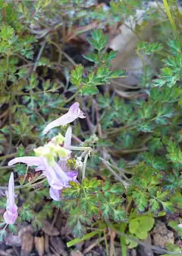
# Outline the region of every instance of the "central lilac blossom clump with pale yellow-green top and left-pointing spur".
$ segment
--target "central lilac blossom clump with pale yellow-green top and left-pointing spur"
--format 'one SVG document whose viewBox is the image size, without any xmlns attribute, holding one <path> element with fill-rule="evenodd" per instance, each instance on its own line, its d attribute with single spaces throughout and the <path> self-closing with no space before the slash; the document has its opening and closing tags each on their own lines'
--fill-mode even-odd
<svg viewBox="0 0 182 256">
<path fill-rule="evenodd" d="M 71 134 L 70 134 L 71 136 Z M 70 138 L 68 138 L 70 140 Z M 56 142 L 57 141 L 57 142 Z M 61 189 L 69 186 L 69 181 L 76 181 L 77 171 L 70 171 L 67 168 L 67 158 L 71 152 L 57 143 L 58 136 L 45 146 L 34 149 L 37 156 L 25 156 L 14 158 L 8 165 L 15 165 L 22 162 L 29 166 L 36 166 L 36 171 L 42 171 L 50 185 L 49 194 L 53 200 L 60 200 Z M 58 162 L 55 158 L 59 157 Z"/>
</svg>

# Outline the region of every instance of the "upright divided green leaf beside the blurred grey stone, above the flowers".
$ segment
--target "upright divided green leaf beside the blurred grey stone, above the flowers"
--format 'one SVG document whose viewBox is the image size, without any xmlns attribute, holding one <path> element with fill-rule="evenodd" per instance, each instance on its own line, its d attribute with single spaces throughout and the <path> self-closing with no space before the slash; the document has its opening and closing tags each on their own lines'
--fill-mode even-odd
<svg viewBox="0 0 182 256">
<path fill-rule="evenodd" d="M 79 88 L 83 95 L 97 94 L 98 85 L 106 85 L 113 78 L 125 76 L 125 71 L 114 71 L 111 69 L 111 59 L 115 59 L 116 53 L 111 51 L 105 53 L 107 37 L 102 30 L 93 30 L 89 43 L 96 50 L 96 53 L 89 53 L 85 57 L 91 62 L 95 62 L 95 66 L 90 69 L 89 74 L 83 77 L 83 66 L 77 66 L 71 71 L 71 83 Z"/>
</svg>

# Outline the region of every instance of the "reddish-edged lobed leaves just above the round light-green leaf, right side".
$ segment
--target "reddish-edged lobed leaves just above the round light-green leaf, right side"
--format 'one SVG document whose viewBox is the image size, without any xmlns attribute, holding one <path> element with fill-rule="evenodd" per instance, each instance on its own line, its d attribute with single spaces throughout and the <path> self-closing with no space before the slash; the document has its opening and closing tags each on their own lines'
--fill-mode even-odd
<svg viewBox="0 0 182 256">
<path fill-rule="evenodd" d="M 180 180 L 178 181 L 180 182 Z M 165 190 L 159 187 L 161 184 L 166 184 Z M 130 193 L 140 212 L 150 210 L 152 213 L 158 213 L 165 210 L 165 213 L 169 213 L 176 211 L 176 203 L 180 203 L 181 196 L 173 195 L 174 190 L 177 191 L 180 187 L 174 185 L 169 190 L 168 186 L 168 178 L 165 180 L 164 173 L 159 171 L 158 167 L 155 169 L 142 163 L 135 170 L 133 187 L 130 187 Z"/>
</svg>

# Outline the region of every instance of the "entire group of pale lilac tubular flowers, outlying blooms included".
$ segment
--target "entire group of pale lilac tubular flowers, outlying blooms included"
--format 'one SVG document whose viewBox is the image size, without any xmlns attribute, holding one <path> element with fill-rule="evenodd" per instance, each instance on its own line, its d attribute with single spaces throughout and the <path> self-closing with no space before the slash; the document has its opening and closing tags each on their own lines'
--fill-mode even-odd
<svg viewBox="0 0 182 256">
<path fill-rule="evenodd" d="M 49 123 L 43 134 L 56 126 L 66 125 L 76 120 L 78 117 L 84 118 L 83 112 L 79 108 L 79 103 L 71 105 L 66 114 L 57 120 Z M 71 156 L 71 151 L 65 147 L 71 146 L 72 129 L 68 127 L 65 137 L 61 134 L 52 138 L 49 143 L 34 149 L 36 156 L 25 156 L 12 159 L 8 165 L 24 163 L 28 166 L 36 166 L 35 171 L 42 171 L 47 178 L 50 189 L 49 194 L 53 200 L 61 200 L 61 190 L 63 187 L 69 187 L 69 181 L 77 181 L 77 171 L 72 171 L 67 167 L 67 159 Z M 64 144 L 63 146 L 61 146 Z M 57 162 L 58 159 L 58 162 Z M 14 175 L 11 177 L 8 185 L 8 200 L 4 219 L 7 224 L 12 224 L 17 219 L 17 206 L 14 203 Z"/>
</svg>

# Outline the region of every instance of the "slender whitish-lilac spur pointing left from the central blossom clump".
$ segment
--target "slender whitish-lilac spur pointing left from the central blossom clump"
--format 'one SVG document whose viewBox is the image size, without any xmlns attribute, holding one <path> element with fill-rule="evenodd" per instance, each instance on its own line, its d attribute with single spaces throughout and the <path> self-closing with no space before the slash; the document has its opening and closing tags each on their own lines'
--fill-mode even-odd
<svg viewBox="0 0 182 256">
<path fill-rule="evenodd" d="M 29 166 L 38 166 L 41 164 L 41 159 L 38 156 L 23 156 L 19 158 L 14 158 L 10 162 L 8 162 L 8 165 L 16 165 L 17 163 L 24 163 Z"/>
</svg>

